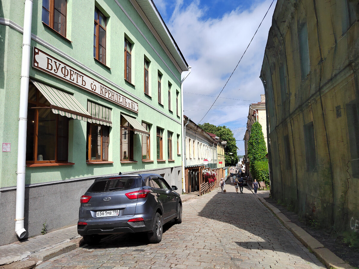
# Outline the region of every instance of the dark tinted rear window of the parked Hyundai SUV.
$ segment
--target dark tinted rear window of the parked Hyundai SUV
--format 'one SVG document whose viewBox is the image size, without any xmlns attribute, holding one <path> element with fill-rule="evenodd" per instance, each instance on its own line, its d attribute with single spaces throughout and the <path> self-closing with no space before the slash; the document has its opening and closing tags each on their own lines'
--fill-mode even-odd
<svg viewBox="0 0 359 269">
<path fill-rule="evenodd" d="M 140 187 L 140 178 L 109 178 L 96 181 L 88 189 L 88 192 L 114 192 Z"/>
</svg>

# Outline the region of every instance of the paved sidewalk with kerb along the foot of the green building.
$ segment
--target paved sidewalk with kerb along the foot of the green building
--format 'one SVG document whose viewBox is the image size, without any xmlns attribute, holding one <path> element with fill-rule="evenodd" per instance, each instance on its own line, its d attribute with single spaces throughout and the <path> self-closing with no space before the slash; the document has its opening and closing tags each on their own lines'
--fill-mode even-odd
<svg viewBox="0 0 359 269">
<path fill-rule="evenodd" d="M 182 202 L 194 197 L 197 195 L 181 195 Z M 83 245 L 84 242 L 81 239 L 82 237 L 77 233 L 77 225 L 74 225 L 46 233 L 46 235 L 34 236 L 22 242 L 0 246 L 0 269 L 4 264 L 28 258 L 35 258 L 39 261 L 49 260 Z"/>
</svg>

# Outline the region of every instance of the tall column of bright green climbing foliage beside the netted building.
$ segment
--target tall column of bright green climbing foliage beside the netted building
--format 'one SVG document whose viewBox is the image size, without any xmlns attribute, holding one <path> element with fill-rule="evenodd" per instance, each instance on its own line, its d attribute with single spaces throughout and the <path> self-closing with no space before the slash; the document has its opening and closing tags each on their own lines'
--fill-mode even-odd
<svg viewBox="0 0 359 269">
<path fill-rule="evenodd" d="M 266 154 L 267 148 L 262 126 L 259 122 L 255 122 L 252 125 L 248 140 L 248 160 L 251 174 L 258 181 L 266 181 L 266 184 L 269 184 L 269 168 Z"/>
</svg>

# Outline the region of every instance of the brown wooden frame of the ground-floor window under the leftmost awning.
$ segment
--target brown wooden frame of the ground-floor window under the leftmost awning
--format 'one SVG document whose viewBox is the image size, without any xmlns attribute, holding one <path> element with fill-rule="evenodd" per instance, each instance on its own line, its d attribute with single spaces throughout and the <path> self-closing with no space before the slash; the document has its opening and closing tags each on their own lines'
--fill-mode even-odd
<svg viewBox="0 0 359 269">
<path fill-rule="evenodd" d="M 67 145 L 66 145 L 66 161 L 58 161 L 57 159 L 57 148 L 58 148 L 58 138 L 59 138 L 59 114 L 55 114 L 55 121 L 56 121 L 56 133 L 55 133 L 55 160 L 45 160 L 45 161 L 38 161 L 37 160 L 37 146 L 38 146 L 38 124 L 39 124 L 39 109 L 44 109 L 44 107 L 47 107 L 48 104 L 45 103 L 40 103 L 39 100 L 39 95 L 40 95 L 40 91 L 36 89 L 36 101 L 34 100 L 28 100 L 28 109 L 35 109 L 35 114 L 34 114 L 34 137 L 33 137 L 33 160 L 28 161 L 26 160 L 26 164 L 27 165 L 31 165 L 31 164 L 69 164 L 68 159 L 69 159 L 69 118 L 67 118 Z M 41 107 L 41 108 L 36 108 L 36 107 Z M 46 109 L 46 108 L 45 108 Z M 50 107 L 48 108 L 50 109 Z M 53 113 L 52 111 L 50 111 L 50 113 Z M 29 124 L 29 123 L 28 123 Z"/>
</svg>

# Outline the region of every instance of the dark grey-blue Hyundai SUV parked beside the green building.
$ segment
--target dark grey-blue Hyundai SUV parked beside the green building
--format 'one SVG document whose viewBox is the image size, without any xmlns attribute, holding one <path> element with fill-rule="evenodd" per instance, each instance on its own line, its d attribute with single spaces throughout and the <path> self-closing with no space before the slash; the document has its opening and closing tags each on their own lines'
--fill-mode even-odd
<svg viewBox="0 0 359 269">
<path fill-rule="evenodd" d="M 180 194 L 157 174 L 103 176 L 80 198 L 77 231 L 89 244 L 101 235 L 147 232 L 151 243 L 162 240 L 163 224 L 182 222 Z"/>
</svg>

